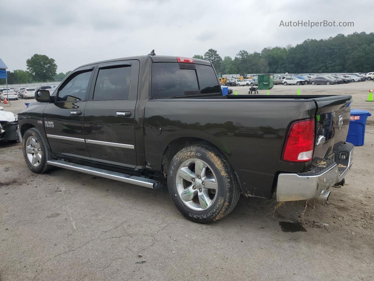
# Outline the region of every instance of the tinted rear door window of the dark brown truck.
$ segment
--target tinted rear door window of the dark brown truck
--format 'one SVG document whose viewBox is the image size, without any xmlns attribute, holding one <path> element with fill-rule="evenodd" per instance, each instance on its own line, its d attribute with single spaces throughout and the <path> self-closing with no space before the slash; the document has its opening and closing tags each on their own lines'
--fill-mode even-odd
<svg viewBox="0 0 374 281">
<path fill-rule="evenodd" d="M 131 66 L 99 69 L 94 100 L 128 99 L 130 93 Z"/>
</svg>

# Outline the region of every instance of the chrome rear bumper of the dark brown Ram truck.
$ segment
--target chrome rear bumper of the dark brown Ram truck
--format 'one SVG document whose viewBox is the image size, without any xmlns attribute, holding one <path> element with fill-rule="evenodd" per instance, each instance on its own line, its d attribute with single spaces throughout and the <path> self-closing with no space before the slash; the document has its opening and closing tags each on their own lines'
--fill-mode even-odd
<svg viewBox="0 0 374 281">
<path fill-rule="evenodd" d="M 280 173 L 278 176 L 277 201 L 296 201 L 316 198 L 332 185 L 342 181 L 352 166 L 352 143 L 344 143 L 335 151 L 335 161 L 325 160 L 305 173 Z M 346 154 L 346 160 L 339 160 Z"/>
</svg>

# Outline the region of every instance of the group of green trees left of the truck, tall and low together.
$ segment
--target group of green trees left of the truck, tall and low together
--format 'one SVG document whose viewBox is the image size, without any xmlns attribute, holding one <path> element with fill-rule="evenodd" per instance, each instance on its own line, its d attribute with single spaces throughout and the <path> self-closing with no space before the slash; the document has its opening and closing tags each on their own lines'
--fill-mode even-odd
<svg viewBox="0 0 374 281">
<path fill-rule="evenodd" d="M 16 69 L 12 72 L 7 71 L 8 84 L 26 84 L 38 82 L 55 82 L 62 81 L 66 73 L 56 73 L 57 64 L 53 58 L 46 55 L 34 54 L 26 61 L 27 70 Z M 5 79 L 0 79 L 0 84 L 5 84 Z"/>
</svg>

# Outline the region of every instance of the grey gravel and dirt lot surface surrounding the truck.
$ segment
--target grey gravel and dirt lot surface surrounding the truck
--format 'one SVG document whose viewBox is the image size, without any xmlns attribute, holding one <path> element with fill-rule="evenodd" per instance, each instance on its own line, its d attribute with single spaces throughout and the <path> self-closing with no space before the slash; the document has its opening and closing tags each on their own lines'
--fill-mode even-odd
<svg viewBox="0 0 374 281">
<path fill-rule="evenodd" d="M 352 94 L 352 108 L 374 113 L 365 102 L 370 88 L 300 86 L 301 94 Z M 6 110 L 17 113 L 24 102 Z M 275 211 L 273 200 L 240 197 L 230 215 L 207 225 L 186 220 L 166 191 L 64 169 L 34 174 L 20 144 L 2 143 L 0 280 L 374 280 L 373 120 L 329 203 L 287 202 Z"/>
</svg>

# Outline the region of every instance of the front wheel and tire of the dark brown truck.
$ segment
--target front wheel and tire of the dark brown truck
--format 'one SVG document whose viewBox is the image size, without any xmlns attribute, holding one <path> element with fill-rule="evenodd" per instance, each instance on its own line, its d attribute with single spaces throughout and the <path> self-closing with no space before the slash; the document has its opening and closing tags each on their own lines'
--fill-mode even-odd
<svg viewBox="0 0 374 281">
<path fill-rule="evenodd" d="M 28 129 L 23 139 L 22 149 L 29 169 L 34 173 L 45 173 L 51 170 L 53 166 L 48 165 L 47 161 L 53 159 L 52 153 L 39 131 L 36 128 Z"/>
</svg>

